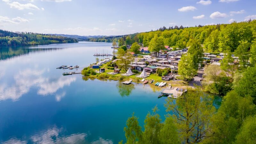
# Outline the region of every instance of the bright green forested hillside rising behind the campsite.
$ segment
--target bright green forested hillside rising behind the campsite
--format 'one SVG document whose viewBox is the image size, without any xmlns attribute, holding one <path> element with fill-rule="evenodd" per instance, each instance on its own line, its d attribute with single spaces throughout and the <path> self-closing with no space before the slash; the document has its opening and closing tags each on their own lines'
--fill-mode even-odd
<svg viewBox="0 0 256 144">
<path fill-rule="evenodd" d="M 151 39 L 156 36 L 164 41 L 164 45 L 173 48 L 186 48 L 189 39 L 196 39 L 204 46 L 205 52 L 224 52 L 230 49 L 234 52 L 242 42 L 251 43 L 256 36 L 256 20 L 246 22 L 233 22 L 231 24 L 218 24 L 209 26 L 197 26 L 183 28 L 175 26 L 170 28 L 159 28 L 157 31 L 139 33 L 135 36 L 128 36 L 133 42 L 143 44 L 144 47 L 149 45 Z M 125 42 L 123 37 L 118 42 Z"/>
</svg>

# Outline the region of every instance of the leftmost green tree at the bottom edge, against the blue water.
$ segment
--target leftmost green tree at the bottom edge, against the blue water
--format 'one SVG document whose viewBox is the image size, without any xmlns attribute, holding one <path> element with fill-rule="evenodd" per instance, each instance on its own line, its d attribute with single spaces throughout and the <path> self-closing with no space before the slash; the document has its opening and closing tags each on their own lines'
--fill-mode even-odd
<svg viewBox="0 0 256 144">
<path fill-rule="evenodd" d="M 132 114 L 132 117 L 129 117 L 126 121 L 126 127 L 124 127 L 126 143 L 135 144 L 137 141 L 142 140 L 141 127 L 138 122 L 138 118 Z"/>
</svg>

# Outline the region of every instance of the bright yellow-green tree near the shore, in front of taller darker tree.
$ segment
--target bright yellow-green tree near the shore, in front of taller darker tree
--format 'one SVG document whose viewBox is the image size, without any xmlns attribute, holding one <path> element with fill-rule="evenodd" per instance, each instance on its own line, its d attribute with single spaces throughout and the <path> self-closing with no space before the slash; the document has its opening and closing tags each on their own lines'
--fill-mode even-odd
<svg viewBox="0 0 256 144">
<path fill-rule="evenodd" d="M 178 67 L 179 75 L 183 78 L 184 81 L 187 78 L 192 78 L 196 74 L 196 69 L 194 68 L 192 58 L 189 54 L 183 55 L 180 58 Z"/>
</svg>

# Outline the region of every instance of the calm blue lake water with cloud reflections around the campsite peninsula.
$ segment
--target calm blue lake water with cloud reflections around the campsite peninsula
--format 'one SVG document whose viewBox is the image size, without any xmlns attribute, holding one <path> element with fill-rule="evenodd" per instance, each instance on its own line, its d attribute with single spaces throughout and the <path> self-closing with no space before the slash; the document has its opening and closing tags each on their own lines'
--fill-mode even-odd
<svg viewBox="0 0 256 144">
<path fill-rule="evenodd" d="M 133 112 L 141 126 L 156 105 L 164 118 L 166 98 L 157 99 L 160 91 L 153 86 L 62 76 L 93 63 L 95 51 L 112 53 L 111 46 L 0 47 L 0 143 L 116 144 L 125 140 L 123 129 Z M 81 68 L 56 69 L 61 65 Z"/>
</svg>

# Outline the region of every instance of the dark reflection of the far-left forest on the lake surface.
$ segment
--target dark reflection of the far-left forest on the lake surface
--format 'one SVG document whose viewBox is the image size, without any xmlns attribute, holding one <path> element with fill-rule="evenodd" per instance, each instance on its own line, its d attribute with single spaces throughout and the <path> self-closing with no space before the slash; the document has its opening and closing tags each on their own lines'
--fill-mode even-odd
<svg viewBox="0 0 256 144">
<path fill-rule="evenodd" d="M 29 48 L 29 47 L 0 47 L 0 60 L 6 60 L 20 55 L 27 55 L 30 52 L 52 52 L 61 48 Z"/>
</svg>

